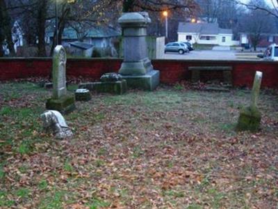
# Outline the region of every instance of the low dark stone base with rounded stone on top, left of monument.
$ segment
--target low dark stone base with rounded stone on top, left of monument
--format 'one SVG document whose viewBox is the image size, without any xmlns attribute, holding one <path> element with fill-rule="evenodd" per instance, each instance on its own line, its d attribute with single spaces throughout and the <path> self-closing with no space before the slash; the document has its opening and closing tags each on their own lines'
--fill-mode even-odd
<svg viewBox="0 0 278 209">
<path fill-rule="evenodd" d="M 109 72 L 101 76 L 100 82 L 92 82 L 79 84 L 79 88 L 87 88 L 90 91 L 96 91 L 97 93 L 112 93 L 123 94 L 126 93 L 126 80 L 122 79 L 122 76 Z"/>
</svg>

